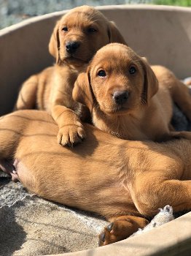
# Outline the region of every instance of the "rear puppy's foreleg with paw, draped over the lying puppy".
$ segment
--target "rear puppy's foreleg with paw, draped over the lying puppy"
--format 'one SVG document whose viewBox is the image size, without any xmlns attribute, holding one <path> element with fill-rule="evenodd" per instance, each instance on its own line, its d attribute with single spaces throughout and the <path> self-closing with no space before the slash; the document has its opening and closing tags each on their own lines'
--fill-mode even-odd
<svg viewBox="0 0 191 256">
<path fill-rule="evenodd" d="M 84 127 L 73 110 L 63 105 L 55 105 L 52 108 L 52 117 L 58 124 L 58 143 L 62 146 L 73 146 L 85 138 Z"/>
</svg>

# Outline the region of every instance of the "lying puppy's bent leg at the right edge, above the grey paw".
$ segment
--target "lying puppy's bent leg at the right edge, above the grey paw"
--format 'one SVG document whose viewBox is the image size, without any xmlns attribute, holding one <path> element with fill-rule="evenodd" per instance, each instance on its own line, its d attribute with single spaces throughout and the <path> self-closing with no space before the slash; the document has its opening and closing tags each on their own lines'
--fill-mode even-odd
<svg viewBox="0 0 191 256">
<path fill-rule="evenodd" d="M 187 173 L 187 178 L 191 178 L 191 173 Z M 155 177 L 153 181 L 151 178 L 147 179 L 148 181 L 144 182 L 144 186 L 135 194 L 141 195 L 136 197 L 136 208 L 141 214 L 152 217 L 158 208 L 165 205 L 172 206 L 174 212 L 191 209 L 191 181 L 161 181 L 161 176 Z"/>
</svg>

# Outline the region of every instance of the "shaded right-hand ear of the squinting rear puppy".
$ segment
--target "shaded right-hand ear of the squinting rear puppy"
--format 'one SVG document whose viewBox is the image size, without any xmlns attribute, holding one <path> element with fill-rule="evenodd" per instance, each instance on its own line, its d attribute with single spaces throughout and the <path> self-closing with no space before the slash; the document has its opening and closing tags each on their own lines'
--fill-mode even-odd
<svg viewBox="0 0 191 256">
<path fill-rule="evenodd" d="M 109 21 L 109 42 L 120 42 L 123 45 L 128 45 L 113 21 Z"/>
</svg>

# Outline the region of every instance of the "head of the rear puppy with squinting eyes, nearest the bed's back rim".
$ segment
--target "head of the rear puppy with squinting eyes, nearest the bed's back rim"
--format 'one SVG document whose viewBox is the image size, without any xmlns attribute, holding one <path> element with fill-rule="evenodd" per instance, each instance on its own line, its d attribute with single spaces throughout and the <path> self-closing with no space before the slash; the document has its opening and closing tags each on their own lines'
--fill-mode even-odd
<svg viewBox="0 0 191 256">
<path fill-rule="evenodd" d="M 82 6 L 72 9 L 56 23 L 49 50 L 58 64 L 68 61 L 81 65 L 109 42 L 125 44 L 114 23 L 95 8 Z"/>
</svg>

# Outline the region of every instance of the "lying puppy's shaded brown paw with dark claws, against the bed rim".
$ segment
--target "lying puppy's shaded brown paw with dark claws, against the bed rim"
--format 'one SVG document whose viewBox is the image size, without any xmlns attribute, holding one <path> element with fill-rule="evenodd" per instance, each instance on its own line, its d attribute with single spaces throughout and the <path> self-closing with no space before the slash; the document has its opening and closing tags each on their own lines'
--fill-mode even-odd
<svg viewBox="0 0 191 256">
<path fill-rule="evenodd" d="M 99 235 L 99 246 L 128 238 L 139 228 L 144 228 L 149 223 L 147 219 L 135 216 L 120 216 L 110 218 L 109 221 L 111 223 Z"/>
</svg>

